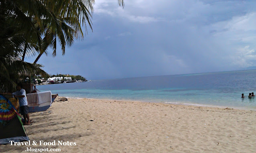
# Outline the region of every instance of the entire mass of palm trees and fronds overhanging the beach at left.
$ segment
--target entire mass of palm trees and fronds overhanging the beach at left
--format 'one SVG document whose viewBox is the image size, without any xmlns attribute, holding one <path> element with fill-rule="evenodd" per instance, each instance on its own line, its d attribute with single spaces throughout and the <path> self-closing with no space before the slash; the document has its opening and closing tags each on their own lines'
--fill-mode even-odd
<svg viewBox="0 0 256 153">
<path fill-rule="evenodd" d="M 91 27 L 95 0 L 0 0 L 0 93 L 15 91 L 28 76 L 45 75 L 37 64 L 42 54 L 62 55 L 74 39 L 83 38 Z M 124 6 L 123 0 L 118 0 Z M 25 58 L 37 57 L 33 63 Z"/>
</svg>

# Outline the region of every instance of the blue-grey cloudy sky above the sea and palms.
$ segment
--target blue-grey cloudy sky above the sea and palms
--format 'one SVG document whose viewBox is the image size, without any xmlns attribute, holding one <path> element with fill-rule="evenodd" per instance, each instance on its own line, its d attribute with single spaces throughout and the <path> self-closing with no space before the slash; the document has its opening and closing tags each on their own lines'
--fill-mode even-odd
<svg viewBox="0 0 256 153">
<path fill-rule="evenodd" d="M 256 66 L 255 0 L 95 0 L 93 31 L 37 63 L 87 80 Z M 33 62 L 36 57 L 27 58 Z"/>
</svg>

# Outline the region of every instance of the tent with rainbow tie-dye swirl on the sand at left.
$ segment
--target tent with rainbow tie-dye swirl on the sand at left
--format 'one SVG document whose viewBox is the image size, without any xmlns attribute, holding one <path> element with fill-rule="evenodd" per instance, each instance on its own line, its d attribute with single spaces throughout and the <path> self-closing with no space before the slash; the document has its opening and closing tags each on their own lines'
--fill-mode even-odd
<svg viewBox="0 0 256 153">
<path fill-rule="evenodd" d="M 0 95 L 0 145 L 28 141 L 20 116 L 12 103 Z"/>
</svg>

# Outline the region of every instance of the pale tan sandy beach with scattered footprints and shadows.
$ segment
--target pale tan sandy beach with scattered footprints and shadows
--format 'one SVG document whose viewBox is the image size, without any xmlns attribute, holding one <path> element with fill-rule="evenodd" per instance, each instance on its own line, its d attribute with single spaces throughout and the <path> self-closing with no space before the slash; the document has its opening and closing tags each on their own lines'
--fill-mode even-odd
<svg viewBox="0 0 256 153">
<path fill-rule="evenodd" d="M 0 145 L 0 152 L 26 147 L 73 153 L 255 153 L 256 111 L 136 101 L 68 99 L 31 113 L 30 141 L 76 145 Z M 31 142 L 32 143 L 32 142 Z"/>
</svg>

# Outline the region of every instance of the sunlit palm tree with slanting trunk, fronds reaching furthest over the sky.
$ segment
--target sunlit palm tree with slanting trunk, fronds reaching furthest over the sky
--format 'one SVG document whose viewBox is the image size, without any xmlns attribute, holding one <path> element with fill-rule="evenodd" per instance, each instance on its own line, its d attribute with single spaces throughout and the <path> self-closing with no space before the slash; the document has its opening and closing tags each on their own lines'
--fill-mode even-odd
<svg viewBox="0 0 256 153">
<path fill-rule="evenodd" d="M 92 30 L 91 14 L 94 3 L 94 0 L 45 0 L 45 6 L 51 9 L 56 18 L 47 20 L 48 25 L 42 48 L 34 63 L 37 63 L 43 53 L 47 53 L 46 50 L 50 45 L 53 47 L 53 56 L 56 56 L 57 38 L 61 44 L 62 55 L 64 55 L 66 42 L 71 46 L 73 38 L 83 38 L 82 26 L 85 26 L 87 32 L 86 23 L 88 23 Z M 124 0 L 118 0 L 118 4 L 124 7 Z"/>
</svg>

